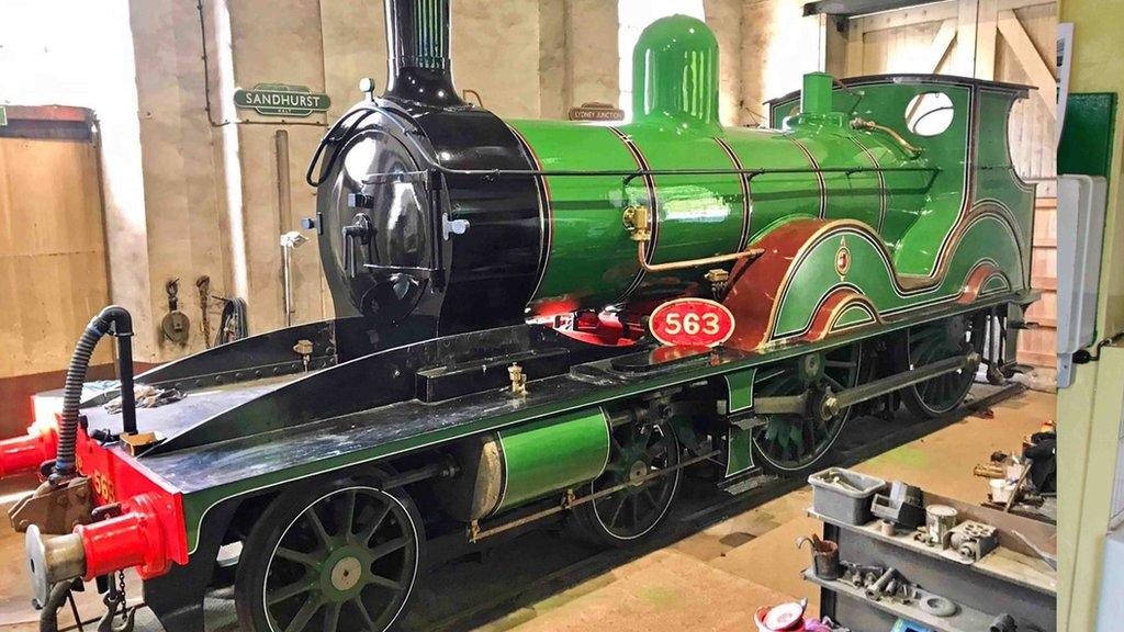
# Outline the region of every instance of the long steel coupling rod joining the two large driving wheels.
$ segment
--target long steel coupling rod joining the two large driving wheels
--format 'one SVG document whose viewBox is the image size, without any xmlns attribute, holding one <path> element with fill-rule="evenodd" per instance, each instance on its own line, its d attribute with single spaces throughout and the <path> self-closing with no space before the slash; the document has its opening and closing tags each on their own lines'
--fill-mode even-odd
<svg viewBox="0 0 1124 632">
<path fill-rule="evenodd" d="M 900 390 L 921 382 L 939 378 L 960 370 L 976 371 L 980 355 L 975 351 L 964 355 L 948 358 L 913 370 L 847 388 L 839 392 L 816 394 L 805 391 L 800 395 L 782 397 L 758 397 L 753 400 L 753 412 L 758 415 L 819 415 L 828 419 L 844 408 L 862 404 L 883 395 Z"/>
</svg>

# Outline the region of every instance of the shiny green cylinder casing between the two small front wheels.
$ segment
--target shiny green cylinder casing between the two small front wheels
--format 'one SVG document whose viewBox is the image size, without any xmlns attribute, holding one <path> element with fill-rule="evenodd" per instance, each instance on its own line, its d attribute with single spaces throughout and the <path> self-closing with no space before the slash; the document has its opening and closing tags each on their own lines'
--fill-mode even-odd
<svg viewBox="0 0 1124 632">
<path fill-rule="evenodd" d="M 609 458 L 609 423 L 587 408 L 499 433 L 504 494 L 497 512 L 571 485 L 593 480 Z"/>
</svg>

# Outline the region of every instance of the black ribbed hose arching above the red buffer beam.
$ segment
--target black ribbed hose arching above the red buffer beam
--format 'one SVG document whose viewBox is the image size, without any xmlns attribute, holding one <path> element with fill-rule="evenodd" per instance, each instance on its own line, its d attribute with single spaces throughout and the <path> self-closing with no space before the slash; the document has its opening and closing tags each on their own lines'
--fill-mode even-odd
<svg viewBox="0 0 1124 632">
<path fill-rule="evenodd" d="M 117 336 L 127 337 L 133 335 L 133 317 L 124 307 L 111 305 L 94 316 L 90 324 L 82 332 L 82 337 L 74 345 L 74 354 L 71 355 L 70 367 L 66 369 L 66 383 L 63 387 L 63 413 L 58 424 L 58 450 L 55 455 L 54 472 L 57 476 L 70 476 L 74 473 L 74 448 L 78 442 L 78 407 L 82 403 L 82 385 L 85 383 L 85 372 L 90 368 L 90 358 L 93 355 L 98 341 L 112 329 Z M 128 343 L 128 342 L 127 342 Z M 129 344 L 128 358 L 120 358 L 119 378 L 121 380 L 121 415 L 133 415 L 132 425 L 136 426 L 136 406 L 133 404 L 133 358 L 132 343 Z M 123 354 L 118 354 L 119 356 Z M 127 362 L 126 362 L 127 360 Z M 126 394 L 126 390 L 128 392 Z M 127 397 L 126 397 L 127 396 Z M 128 410 L 126 410 L 128 408 Z M 126 426 L 129 424 L 126 423 Z"/>
</svg>

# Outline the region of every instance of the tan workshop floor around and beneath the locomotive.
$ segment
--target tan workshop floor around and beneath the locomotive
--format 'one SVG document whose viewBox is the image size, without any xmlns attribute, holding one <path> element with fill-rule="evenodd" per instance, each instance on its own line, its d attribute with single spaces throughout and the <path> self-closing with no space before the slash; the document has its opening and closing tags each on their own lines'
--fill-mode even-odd
<svg viewBox="0 0 1124 632">
<path fill-rule="evenodd" d="M 998 404 L 995 416 L 966 417 L 934 434 L 900 445 L 853 469 L 905 480 L 927 491 L 968 502 L 982 500 L 985 481 L 972 468 L 996 450 L 1013 451 L 1027 433 L 1054 418 L 1054 396 L 1027 391 Z M 26 481 L 24 481 L 26 484 Z M 4 508 L 12 484 L 0 488 Z M 556 632 L 583 630 L 744 632 L 760 605 L 806 597 L 818 590 L 798 572 L 808 565 L 797 536 L 818 531 L 805 516 L 812 503 L 805 486 L 752 509 L 688 535 L 673 544 L 627 561 L 606 572 L 563 586 L 550 597 L 528 603 L 478 630 L 486 632 Z M 518 547 L 518 542 L 510 547 Z M 31 632 L 36 613 L 28 607 L 22 570 L 22 538 L 0 520 L 0 631 Z M 457 586 L 459 592 L 471 592 Z M 133 592 L 134 595 L 137 592 Z M 90 615 L 96 595 L 84 595 L 82 612 Z M 228 604 L 228 603 L 227 603 Z M 229 610 L 229 605 L 217 610 Z M 208 608 L 208 622 L 212 610 Z M 237 630 L 229 615 L 220 630 Z M 69 621 L 69 616 L 64 617 Z M 92 629 L 92 626 L 88 626 Z M 428 628 L 428 625 L 424 626 Z M 423 629 L 424 629 L 423 628 Z M 137 630 L 160 630 L 151 614 L 137 617 Z"/>
</svg>

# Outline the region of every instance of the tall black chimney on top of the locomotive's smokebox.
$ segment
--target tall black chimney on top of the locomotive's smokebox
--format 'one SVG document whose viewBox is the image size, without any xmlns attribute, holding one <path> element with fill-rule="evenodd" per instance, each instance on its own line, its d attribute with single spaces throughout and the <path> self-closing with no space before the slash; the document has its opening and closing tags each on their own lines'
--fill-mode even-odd
<svg viewBox="0 0 1124 632">
<path fill-rule="evenodd" d="M 386 0 L 390 72 L 387 97 L 463 106 L 453 87 L 448 0 Z"/>
</svg>

